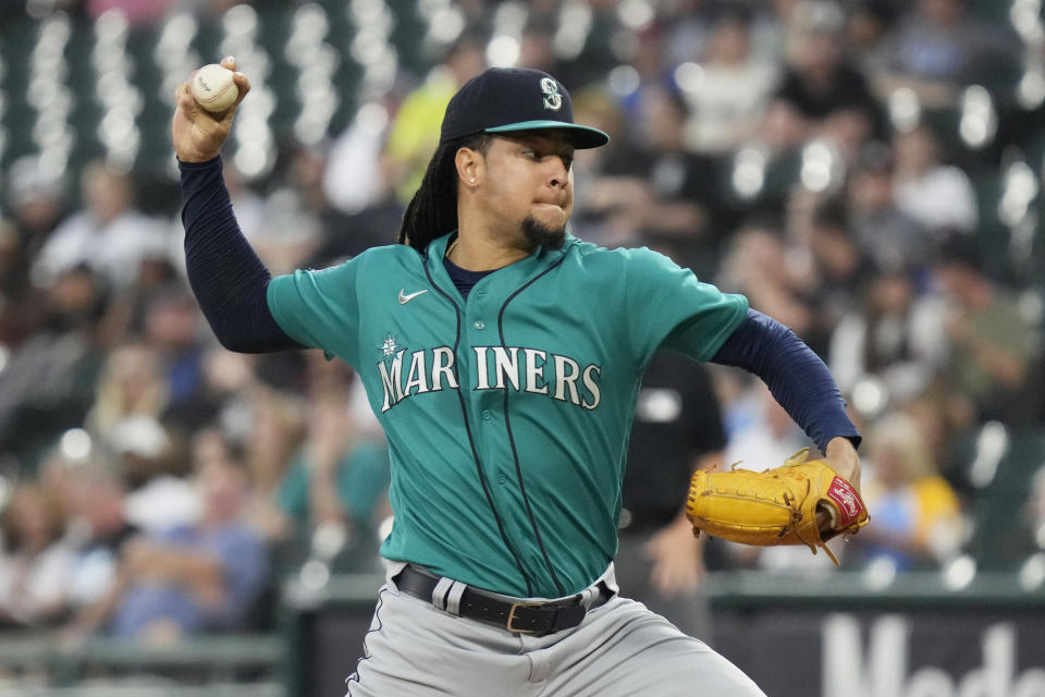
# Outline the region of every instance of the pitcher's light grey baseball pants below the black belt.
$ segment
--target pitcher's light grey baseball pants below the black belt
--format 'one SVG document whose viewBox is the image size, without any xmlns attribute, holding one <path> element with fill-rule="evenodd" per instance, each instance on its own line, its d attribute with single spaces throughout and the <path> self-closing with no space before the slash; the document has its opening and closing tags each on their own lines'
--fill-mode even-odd
<svg viewBox="0 0 1045 697">
<path fill-rule="evenodd" d="M 378 596 L 346 697 L 765 697 L 703 641 L 628 598 L 534 637 L 401 594 L 399 570 L 392 564 Z M 600 580 L 616 588 L 612 564 Z"/>
</svg>

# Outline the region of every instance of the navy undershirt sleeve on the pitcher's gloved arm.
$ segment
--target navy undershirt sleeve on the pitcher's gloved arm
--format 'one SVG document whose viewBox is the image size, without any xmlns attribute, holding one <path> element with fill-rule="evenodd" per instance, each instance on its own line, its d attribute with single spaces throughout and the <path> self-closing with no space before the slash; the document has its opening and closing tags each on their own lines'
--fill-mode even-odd
<svg viewBox="0 0 1045 697">
<path fill-rule="evenodd" d="M 827 366 L 775 319 L 749 309 L 711 362 L 743 368 L 762 378 L 773 398 L 821 452 L 839 436 L 860 445 L 860 432 L 846 414 L 846 402 Z"/>
</svg>

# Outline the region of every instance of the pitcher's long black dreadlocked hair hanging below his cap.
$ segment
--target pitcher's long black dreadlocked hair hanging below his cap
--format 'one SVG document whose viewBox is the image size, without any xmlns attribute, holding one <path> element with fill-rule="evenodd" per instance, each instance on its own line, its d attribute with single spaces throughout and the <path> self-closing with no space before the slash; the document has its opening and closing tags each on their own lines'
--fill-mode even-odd
<svg viewBox="0 0 1045 697">
<path fill-rule="evenodd" d="M 457 229 L 457 150 L 470 148 L 485 155 L 489 144 L 490 135 L 485 133 L 440 144 L 421 186 L 403 213 L 399 244 L 425 252 L 432 240 Z"/>
</svg>

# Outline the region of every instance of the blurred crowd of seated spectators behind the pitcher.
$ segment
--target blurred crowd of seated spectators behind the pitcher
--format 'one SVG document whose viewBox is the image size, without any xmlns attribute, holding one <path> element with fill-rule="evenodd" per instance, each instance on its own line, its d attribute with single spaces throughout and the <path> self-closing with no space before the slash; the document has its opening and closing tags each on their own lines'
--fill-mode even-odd
<svg viewBox="0 0 1045 697">
<path fill-rule="evenodd" d="M 174 4 L 77 16 L 162 22 Z M 832 543 L 843 567 L 1016 563 L 1045 548 L 1045 475 L 1028 497 L 1045 451 L 1021 455 L 1026 506 L 983 501 L 1045 418 L 1045 87 L 1034 103 L 1024 84 L 1041 40 L 991 5 L 462 0 L 464 30 L 430 70 L 402 70 L 320 146 L 283 142 L 268 176 L 226 161 L 228 186 L 273 274 L 393 242 L 450 96 L 503 58 L 509 14 L 514 62 L 558 76 L 576 120 L 612 138 L 577 154 L 574 234 L 746 294 L 831 367 L 864 432 L 872 518 Z M 999 222 L 1007 199 L 981 184 L 1009 196 L 1010 171 L 1031 189 Z M 146 215 L 135 172 L 101 160 L 54 176 L 23 157 L 3 182 L 0 626 L 157 641 L 267 627 L 288 575 L 379 568 L 389 465 L 356 378 L 317 352 L 217 344 L 183 273 L 176 186 Z M 808 444 L 761 382 L 708 375 L 723 466 Z M 643 455 L 630 467 L 655 478 Z M 978 547 L 988 514 L 1010 518 L 1004 549 Z M 708 552 L 714 568 L 831 568 L 804 548 Z"/>
</svg>

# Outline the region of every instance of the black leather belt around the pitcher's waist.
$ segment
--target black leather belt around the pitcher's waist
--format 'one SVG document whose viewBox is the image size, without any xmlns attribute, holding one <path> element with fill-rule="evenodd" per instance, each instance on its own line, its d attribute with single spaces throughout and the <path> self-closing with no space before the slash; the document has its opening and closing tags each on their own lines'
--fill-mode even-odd
<svg viewBox="0 0 1045 697">
<path fill-rule="evenodd" d="M 432 591 L 435 590 L 440 577 L 407 565 L 392 580 L 403 592 L 432 602 Z M 592 601 L 591 608 L 604 604 L 613 596 L 613 591 L 603 583 L 599 584 L 598 589 L 599 595 Z M 508 632 L 544 635 L 571 629 L 580 624 L 588 613 L 580 600 L 581 596 L 577 595 L 566 600 L 548 602 L 512 602 L 467 586 L 460 596 L 458 614 L 469 620 L 500 625 Z"/>
</svg>

